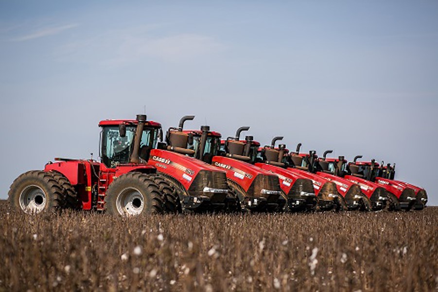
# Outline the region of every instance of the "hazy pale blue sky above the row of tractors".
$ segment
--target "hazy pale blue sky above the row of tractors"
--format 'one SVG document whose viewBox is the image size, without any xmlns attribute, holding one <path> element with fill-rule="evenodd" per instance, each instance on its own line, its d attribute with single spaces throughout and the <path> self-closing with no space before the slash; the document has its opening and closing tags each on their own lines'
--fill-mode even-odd
<svg viewBox="0 0 438 292">
<path fill-rule="evenodd" d="M 438 204 L 437 1 L 0 1 L 0 198 L 97 124 L 251 126 L 397 163 Z"/>
</svg>

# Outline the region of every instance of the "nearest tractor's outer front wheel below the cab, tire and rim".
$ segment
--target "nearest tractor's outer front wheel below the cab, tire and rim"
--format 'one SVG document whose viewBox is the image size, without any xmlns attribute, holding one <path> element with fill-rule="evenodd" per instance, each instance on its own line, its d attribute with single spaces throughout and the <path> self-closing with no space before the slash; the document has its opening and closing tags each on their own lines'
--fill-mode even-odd
<svg viewBox="0 0 438 292">
<path fill-rule="evenodd" d="M 162 213 L 160 188 L 150 175 L 129 172 L 114 180 L 106 191 L 105 212 L 117 216 Z"/>
</svg>

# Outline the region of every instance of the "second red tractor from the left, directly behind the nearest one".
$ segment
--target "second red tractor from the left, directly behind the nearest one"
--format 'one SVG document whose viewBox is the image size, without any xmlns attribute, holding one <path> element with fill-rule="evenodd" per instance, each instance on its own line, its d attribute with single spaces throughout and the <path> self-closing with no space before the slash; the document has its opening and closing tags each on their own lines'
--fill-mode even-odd
<svg viewBox="0 0 438 292">
<path fill-rule="evenodd" d="M 279 211 L 286 202 L 281 196 L 279 179 L 250 164 L 257 153 L 250 153 L 253 143 L 250 137 L 245 141 L 239 139 L 244 129 L 239 128 L 235 137 L 222 141 L 221 134 L 210 131 L 207 126 L 184 132 L 193 136 L 197 159 L 226 171 L 228 185 L 236 199 L 236 206 L 228 207 L 229 210 Z"/>
</svg>

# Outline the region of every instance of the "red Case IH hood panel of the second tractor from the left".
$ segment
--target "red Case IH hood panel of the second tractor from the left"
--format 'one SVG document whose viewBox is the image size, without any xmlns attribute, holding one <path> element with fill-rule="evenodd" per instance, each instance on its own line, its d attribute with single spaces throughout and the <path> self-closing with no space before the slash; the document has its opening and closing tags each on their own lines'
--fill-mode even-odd
<svg viewBox="0 0 438 292">
<path fill-rule="evenodd" d="M 239 184 L 245 192 L 248 191 L 257 175 L 274 175 L 260 167 L 224 156 L 214 156 L 212 164 L 224 169 L 227 172 L 227 178 Z"/>
</svg>

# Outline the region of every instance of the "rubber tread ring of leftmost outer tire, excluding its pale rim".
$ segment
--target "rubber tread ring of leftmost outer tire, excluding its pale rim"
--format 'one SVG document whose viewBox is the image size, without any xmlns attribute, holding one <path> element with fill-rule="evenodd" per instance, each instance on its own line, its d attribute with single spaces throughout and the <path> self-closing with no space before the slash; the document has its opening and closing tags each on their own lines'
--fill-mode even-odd
<svg viewBox="0 0 438 292">
<path fill-rule="evenodd" d="M 40 187 L 46 196 L 46 205 L 41 212 L 61 209 L 65 206 L 63 188 L 51 172 L 42 170 L 27 171 L 14 180 L 8 192 L 8 200 L 15 210 L 23 211 L 20 207 L 20 194 L 28 186 Z"/>
</svg>

